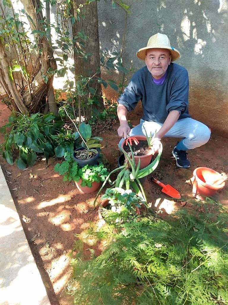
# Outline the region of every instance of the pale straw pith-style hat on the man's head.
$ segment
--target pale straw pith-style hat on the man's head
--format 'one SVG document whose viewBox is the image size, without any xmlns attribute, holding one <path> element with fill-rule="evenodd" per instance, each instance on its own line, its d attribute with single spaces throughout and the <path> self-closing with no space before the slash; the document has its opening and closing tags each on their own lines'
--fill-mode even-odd
<svg viewBox="0 0 228 305">
<path fill-rule="evenodd" d="M 147 49 L 153 48 L 170 50 L 171 61 L 177 60 L 180 57 L 180 52 L 177 49 L 171 47 L 169 38 L 165 34 L 161 33 L 157 33 L 151 36 L 148 40 L 147 46 L 145 48 L 139 49 L 136 55 L 139 59 L 145 60 Z"/>
</svg>

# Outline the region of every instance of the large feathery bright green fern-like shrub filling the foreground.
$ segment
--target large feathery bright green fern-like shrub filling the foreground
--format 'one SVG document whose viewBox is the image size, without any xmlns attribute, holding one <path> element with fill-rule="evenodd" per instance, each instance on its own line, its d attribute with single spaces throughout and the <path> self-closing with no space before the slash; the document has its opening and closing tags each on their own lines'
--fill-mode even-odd
<svg viewBox="0 0 228 305">
<path fill-rule="evenodd" d="M 180 210 L 168 221 L 149 216 L 121 224 L 124 231 L 113 230 L 118 223 L 90 230 L 88 239 L 106 239 L 107 246 L 98 257 L 74 255 L 68 291 L 82 305 L 226 304 L 227 221 L 222 209 L 199 216 Z"/>
</svg>

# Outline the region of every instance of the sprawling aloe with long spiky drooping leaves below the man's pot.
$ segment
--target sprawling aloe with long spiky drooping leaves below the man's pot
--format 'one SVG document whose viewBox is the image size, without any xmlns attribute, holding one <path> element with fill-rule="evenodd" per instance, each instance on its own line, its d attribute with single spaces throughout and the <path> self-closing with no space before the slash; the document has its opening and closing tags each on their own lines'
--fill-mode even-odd
<svg viewBox="0 0 228 305">
<path fill-rule="evenodd" d="M 142 169 L 140 169 L 140 159 L 138 160 L 138 164 L 136 165 L 135 157 L 133 155 L 131 146 L 130 146 L 131 158 L 122 149 L 122 147 L 120 145 L 118 145 L 118 147 L 119 147 L 119 150 L 122 151 L 125 155 L 125 162 L 122 166 L 118 166 L 117 168 L 115 168 L 114 170 L 112 170 L 109 173 L 109 175 L 107 176 L 107 178 L 105 179 L 105 181 L 103 182 L 101 188 L 99 189 L 99 191 L 97 193 L 97 196 L 94 200 L 94 208 L 95 208 L 97 198 L 98 198 L 100 192 L 102 191 L 103 187 L 105 186 L 106 182 L 109 181 L 109 183 L 110 183 L 110 176 L 118 171 L 119 171 L 119 174 L 117 175 L 116 180 L 111 181 L 110 184 L 113 187 L 119 187 L 119 188 L 124 187 L 126 190 L 129 190 L 131 188 L 132 190 L 134 190 L 136 192 L 136 194 L 138 196 L 140 196 L 145 201 L 145 205 L 147 204 L 146 195 L 145 195 L 143 186 L 139 179 L 151 174 L 158 166 L 160 157 L 161 157 L 161 153 L 162 153 L 161 142 L 159 142 L 158 154 L 157 154 L 156 158 L 154 159 L 154 161 L 152 163 L 150 163 L 149 165 L 147 165 L 147 167 L 144 167 Z"/>
</svg>

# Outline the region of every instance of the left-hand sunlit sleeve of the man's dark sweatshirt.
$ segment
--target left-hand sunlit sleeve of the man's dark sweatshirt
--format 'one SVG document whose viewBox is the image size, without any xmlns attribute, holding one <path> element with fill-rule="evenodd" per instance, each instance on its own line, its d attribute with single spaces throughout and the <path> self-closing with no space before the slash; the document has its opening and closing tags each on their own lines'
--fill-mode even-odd
<svg viewBox="0 0 228 305">
<path fill-rule="evenodd" d="M 140 90 L 140 80 L 137 74 L 134 74 L 129 84 L 125 87 L 117 102 L 127 108 L 128 111 L 134 110 L 137 102 L 142 99 Z"/>
</svg>

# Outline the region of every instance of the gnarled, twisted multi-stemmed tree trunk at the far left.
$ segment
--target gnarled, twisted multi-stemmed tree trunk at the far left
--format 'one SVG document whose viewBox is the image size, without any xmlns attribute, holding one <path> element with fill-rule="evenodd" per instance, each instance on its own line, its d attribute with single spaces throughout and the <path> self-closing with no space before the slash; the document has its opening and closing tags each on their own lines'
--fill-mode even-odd
<svg viewBox="0 0 228 305">
<path fill-rule="evenodd" d="M 43 13 L 40 0 L 21 0 L 21 2 L 24 5 L 26 14 L 31 18 L 28 18 L 31 30 L 45 32 L 46 28 L 43 27 Z M 15 16 L 13 5 L 12 14 Z M 5 19 L 3 10 L 1 18 Z M 50 31 L 46 33 L 50 38 Z M 0 82 L 9 98 L 13 100 L 13 106 L 16 106 L 20 112 L 27 113 L 29 111 L 34 113 L 40 111 L 47 100 L 50 111 L 57 114 L 53 89 L 53 73 L 57 69 L 57 64 L 54 60 L 53 48 L 45 35 L 40 36 L 35 34 L 34 36 L 37 40 L 36 54 L 30 54 L 29 49 L 24 48 L 21 40 L 16 45 L 10 35 L 8 37 L 9 41 L 7 39 L 6 41 L 4 39 L 0 40 Z M 8 48 L 7 44 L 9 45 Z M 29 75 L 26 85 L 20 73 L 14 75 L 17 82 L 12 80 L 9 73 L 9 69 L 13 65 L 11 59 L 15 57 L 18 65 L 26 67 L 27 75 Z M 32 58 L 35 58 L 35 60 Z"/>
</svg>

